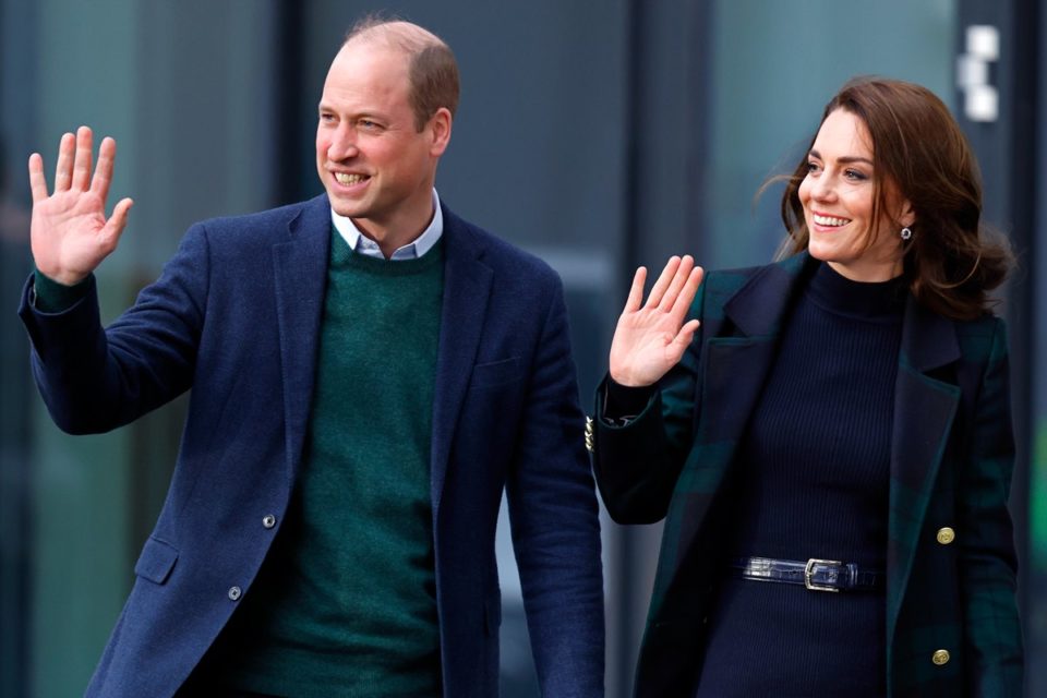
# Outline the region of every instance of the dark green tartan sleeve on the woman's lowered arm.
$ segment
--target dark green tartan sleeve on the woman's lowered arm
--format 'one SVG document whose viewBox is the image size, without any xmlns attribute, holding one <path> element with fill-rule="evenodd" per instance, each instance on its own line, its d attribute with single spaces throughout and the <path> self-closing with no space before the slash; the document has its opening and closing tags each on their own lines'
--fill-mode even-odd
<svg viewBox="0 0 1047 698">
<path fill-rule="evenodd" d="M 1015 605 L 1013 526 L 1007 500 L 1014 437 L 1006 326 L 996 322 L 972 422 L 971 448 L 960 472 L 960 582 L 972 696 L 1019 696 L 1023 651 Z"/>
</svg>

